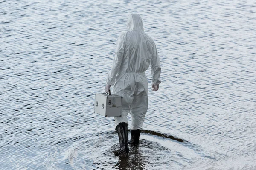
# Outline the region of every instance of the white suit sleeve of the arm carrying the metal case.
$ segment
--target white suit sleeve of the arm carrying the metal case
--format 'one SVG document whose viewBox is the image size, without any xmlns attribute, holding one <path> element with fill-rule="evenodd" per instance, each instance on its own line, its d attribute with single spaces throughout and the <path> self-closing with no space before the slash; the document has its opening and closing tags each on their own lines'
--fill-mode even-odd
<svg viewBox="0 0 256 170">
<path fill-rule="evenodd" d="M 121 34 L 116 42 L 116 54 L 112 63 L 111 70 L 108 72 L 106 83 L 108 85 L 114 85 L 116 80 L 116 74 L 122 64 L 122 59 L 125 52 L 125 34 Z"/>
</svg>

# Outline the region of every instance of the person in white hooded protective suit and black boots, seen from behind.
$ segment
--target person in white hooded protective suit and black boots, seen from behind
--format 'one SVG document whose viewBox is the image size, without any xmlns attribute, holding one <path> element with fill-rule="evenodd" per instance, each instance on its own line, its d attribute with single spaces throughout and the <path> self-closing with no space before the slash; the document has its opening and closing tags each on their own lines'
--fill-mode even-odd
<svg viewBox="0 0 256 170">
<path fill-rule="evenodd" d="M 108 73 L 105 91 L 113 85 L 113 93 L 123 97 L 122 117 L 115 117 L 120 150 L 129 153 L 127 126 L 131 114 L 131 144 L 138 144 L 148 110 L 148 79 L 145 71 L 151 66 L 152 91 L 159 88 L 161 66 L 154 40 L 145 34 L 139 14 L 130 14 L 128 31 L 117 39 L 116 54 Z"/>
</svg>

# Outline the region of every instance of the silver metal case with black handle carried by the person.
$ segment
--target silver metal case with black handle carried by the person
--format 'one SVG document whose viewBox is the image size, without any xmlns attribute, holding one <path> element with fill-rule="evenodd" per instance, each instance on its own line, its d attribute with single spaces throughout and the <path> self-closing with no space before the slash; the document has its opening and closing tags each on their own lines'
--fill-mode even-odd
<svg viewBox="0 0 256 170">
<path fill-rule="evenodd" d="M 96 93 L 94 103 L 94 113 L 105 117 L 122 116 L 122 97 L 118 95 Z"/>
</svg>

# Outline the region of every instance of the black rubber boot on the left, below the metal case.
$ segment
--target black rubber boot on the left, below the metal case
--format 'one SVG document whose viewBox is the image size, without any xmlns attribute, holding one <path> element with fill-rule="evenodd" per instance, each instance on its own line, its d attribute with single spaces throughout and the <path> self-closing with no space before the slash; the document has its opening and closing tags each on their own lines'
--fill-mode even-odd
<svg viewBox="0 0 256 170">
<path fill-rule="evenodd" d="M 118 155 L 122 153 L 129 153 L 128 148 L 128 127 L 127 123 L 119 123 L 116 127 L 116 131 L 118 133 L 119 137 L 119 143 L 120 143 L 120 150 L 118 152 Z"/>
</svg>

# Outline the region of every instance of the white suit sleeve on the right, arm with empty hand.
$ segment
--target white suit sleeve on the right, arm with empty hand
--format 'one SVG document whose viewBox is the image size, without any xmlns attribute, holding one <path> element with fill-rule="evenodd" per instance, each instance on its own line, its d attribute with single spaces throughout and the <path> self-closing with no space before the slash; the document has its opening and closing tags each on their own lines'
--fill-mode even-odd
<svg viewBox="0 0 256 170">
<path fill-rule="evenodd" d="M 152 83 L 154 85 L 159 85 L 161 83 L 160 74 L 161 74 L 161 65 L 160 65 L 160 59 L 157 53 L 157 47 L 154 43 L 153 49 L 152 49 L 152 57 L 150 61 L 151 65 L 151 74 L 152 74 Z"/>
</svg>

